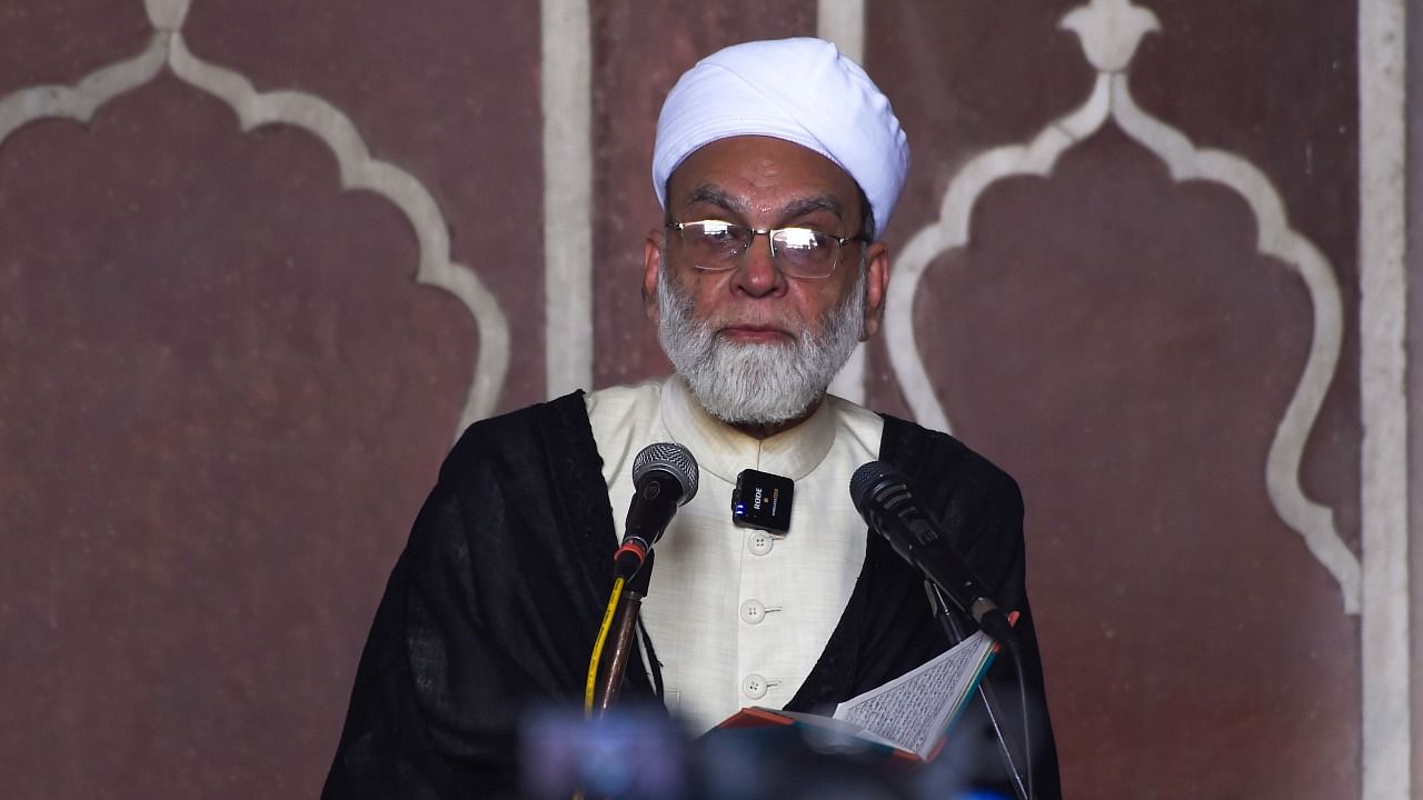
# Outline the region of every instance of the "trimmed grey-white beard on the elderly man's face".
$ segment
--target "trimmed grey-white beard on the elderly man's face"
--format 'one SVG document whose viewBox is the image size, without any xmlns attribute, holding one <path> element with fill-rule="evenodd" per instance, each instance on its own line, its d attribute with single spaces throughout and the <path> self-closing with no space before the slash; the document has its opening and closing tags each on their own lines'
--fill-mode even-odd
<svg viewBox="0 0 1423 800">
<path fill-rule="evenodd" d="M 666 263 L 666 259 L 663 259 Z M 785 344 L 729 342 L 694 316 L 693 299 L 657 272 L 657 340 L 692 396 L 724 423 L 794 420 L 825 394 L 864 332 L 865 269 L 850 295 L 817 320 L 801 323 Z"/>
</svg>

